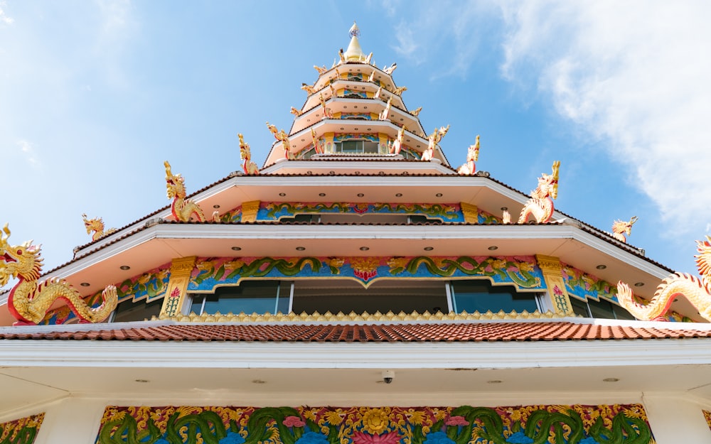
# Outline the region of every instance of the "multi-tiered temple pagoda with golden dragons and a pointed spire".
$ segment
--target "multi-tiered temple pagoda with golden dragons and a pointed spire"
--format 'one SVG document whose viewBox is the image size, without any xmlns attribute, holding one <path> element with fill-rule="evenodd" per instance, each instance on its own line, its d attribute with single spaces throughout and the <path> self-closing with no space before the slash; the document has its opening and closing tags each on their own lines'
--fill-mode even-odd
<svg viewBox="0 0 711 444">
<path fill-rule="evenodd" d="M 0 443 L 711 443 L 711 244 L 674 274 L 555 208 L 555 158 L 527 194 L 445 156 L 350 36 L 263 166 L 168 159 L 50 271 L 5 226 Z"/>
</svg>

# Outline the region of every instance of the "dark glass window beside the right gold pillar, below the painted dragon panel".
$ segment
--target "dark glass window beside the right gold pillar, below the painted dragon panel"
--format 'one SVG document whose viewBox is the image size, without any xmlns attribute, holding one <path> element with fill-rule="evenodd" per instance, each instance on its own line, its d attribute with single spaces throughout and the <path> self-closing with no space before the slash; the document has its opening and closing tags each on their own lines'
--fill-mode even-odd
<svg viewBox="0 0 711 444">
<path fill-rule="evenodd" d="M 492 286 L 488 281 L 452 281 L 452 306 L 455 313 L 506 313 L 538 310 L 534 293 L 516 293 L 512 286 Z"/>
</svg>

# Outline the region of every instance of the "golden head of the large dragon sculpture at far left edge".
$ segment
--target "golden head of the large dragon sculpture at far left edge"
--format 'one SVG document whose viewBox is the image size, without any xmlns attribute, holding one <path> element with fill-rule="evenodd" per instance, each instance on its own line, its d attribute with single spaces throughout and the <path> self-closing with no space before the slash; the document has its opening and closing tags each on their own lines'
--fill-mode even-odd
<svg viewBox="0 0 711 444">
<path fill-rule="evenodd" d="M 5 224 L 5 235 L 0 233 L 0 286 L 9 282 L 10 278 L 21 278 L 33 281 L 39 278 L 42 272 L 42 258 L 40 247 L 32 245 L 32 241 L 21 245 L 10 245 L 10 229 Z"/>
</svg>

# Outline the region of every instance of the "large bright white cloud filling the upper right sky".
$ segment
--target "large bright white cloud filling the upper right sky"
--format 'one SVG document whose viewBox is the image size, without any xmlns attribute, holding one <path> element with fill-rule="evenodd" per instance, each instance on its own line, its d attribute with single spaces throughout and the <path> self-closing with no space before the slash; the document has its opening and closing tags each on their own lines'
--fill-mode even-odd
<svg viewBox="0 0 711 444">
<path fill-rule="evenodd" d="M 532 74 L 555 109 L 631 166 L 670 227 L 711 220 L 707 2 L 513 2 L 503 74 Z"/>
</svg>

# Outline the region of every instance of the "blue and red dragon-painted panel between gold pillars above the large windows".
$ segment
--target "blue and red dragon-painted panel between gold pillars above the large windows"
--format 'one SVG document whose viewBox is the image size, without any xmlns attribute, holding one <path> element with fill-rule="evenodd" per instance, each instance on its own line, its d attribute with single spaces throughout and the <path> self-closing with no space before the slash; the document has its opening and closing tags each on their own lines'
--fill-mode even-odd
<svg viewBox="0 0 711 444">
<path fill-rule="evenodd" d="M 378 278 L 477 278 L 523 290 L 545 288 L 533 256 L 240 257 L 196 262 L 188 291 L 212 291 L 242 278 L 351 278 L 368 286 Z"/>
</svg>

